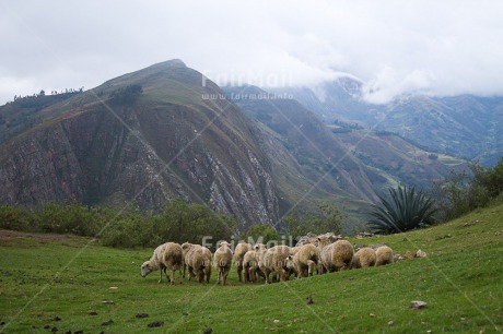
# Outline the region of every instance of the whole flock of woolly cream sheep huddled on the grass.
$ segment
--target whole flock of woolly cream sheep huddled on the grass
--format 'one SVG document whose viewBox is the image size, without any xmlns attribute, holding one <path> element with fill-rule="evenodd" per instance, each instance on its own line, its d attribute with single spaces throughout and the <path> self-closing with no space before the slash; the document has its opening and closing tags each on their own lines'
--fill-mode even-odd
<svg viewBox="0 0 503 334">
<path fill-rule="evenodd" d="M 353 246 L 347 240 L 337 240 L 327 236 L 319 236 L 315 243 L 297 247 L 284 244 L 269 249 L 261 243 L 252 246 L 238 243 L 234 249 L 226 241 L 222 241 L 213 255 L 213 267 L 218 273 L 218 284 L 225 285 L 227 275 L 234 262 L 239 282 L 257 282 L 262 277 L 266 283 L 279 279 L 288 281 L 293 274 L 297 278 L 318 274 L 337 272 L 347 269 L 378 266 L 394 262 L 394 253 L 387 246 L 376 250 L 364 247 L 354 251 Z M 160 271 L 159 283 L 162 282 L 163 272 L 171 284 L 175 284 L 175 272 L 179 271 L 182 284 L 188 269 L 188 279 L 197 276 L 199 283 L 210 282 L 212 267 L 211 251 L 200 244 L 185 242 L 166 242 L 159 246 L 149 261 L 141 265 L 141 276 L 145 277 L 153 271 Z M 166 270 L 171 271 L 168 277 Z M 182 270 L 184 271 L 182 273 Z M 272 274 L 272 279 L 271 279 Z"/>
</svg>

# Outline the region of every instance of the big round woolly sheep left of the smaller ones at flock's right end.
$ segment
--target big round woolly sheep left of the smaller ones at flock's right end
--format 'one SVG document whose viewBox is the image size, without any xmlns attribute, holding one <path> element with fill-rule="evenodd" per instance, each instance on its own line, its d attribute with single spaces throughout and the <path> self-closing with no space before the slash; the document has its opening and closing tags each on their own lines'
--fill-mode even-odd
<svg viewBox="0 0 503 334">
<path fill-rule="evenodd" d="M 347 240 L 338 240 L 329 243 L 330 239 L 325 236 L 318 237 L 319 253 L 321 259 L 323 270 L 332 273 L 343 269 L 350 269 L 354 255 L 353 246 Z"/>
</svg>

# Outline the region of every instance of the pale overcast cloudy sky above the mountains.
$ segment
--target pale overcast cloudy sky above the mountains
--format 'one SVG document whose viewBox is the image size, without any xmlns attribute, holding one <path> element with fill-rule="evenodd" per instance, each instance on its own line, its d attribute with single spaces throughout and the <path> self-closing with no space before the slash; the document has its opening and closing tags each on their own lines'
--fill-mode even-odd
<svg viewBox="0 0 503 334">
<path fill-rule="evenodd" d="M 0 104 L 182 59 L 219 84 L 341 75 L 370 103 L 503 95 L 503 1 L 0 0 Z"/>
</svg>

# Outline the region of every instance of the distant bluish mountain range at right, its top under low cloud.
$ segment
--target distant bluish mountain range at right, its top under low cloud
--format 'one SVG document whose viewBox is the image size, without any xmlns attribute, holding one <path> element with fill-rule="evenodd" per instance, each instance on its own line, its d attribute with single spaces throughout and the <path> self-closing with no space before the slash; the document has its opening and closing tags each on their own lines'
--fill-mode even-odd
<svg viewBox="0 0 503 334">
<path fill-rule="evenodd" d="M 503 97 L 460 95 L 401 96 L 387 105 L 366 103 L 362 83 L 340 77 L 312 90 L 288 87 L 288 93 L 319 115 L 365 128 L 396 132 L 423 147 L 494 165 L 503 156 Z"/>
</svg>

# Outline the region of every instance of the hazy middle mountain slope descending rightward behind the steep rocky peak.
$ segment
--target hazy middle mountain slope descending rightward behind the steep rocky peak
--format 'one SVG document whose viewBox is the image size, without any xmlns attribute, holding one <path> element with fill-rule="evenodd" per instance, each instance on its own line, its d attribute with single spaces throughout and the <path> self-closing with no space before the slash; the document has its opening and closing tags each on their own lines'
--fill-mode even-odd
<svg viewBox="0 0 503 334">
<path fill-rule="evenodd" d="M 324 189 L 341 205 L 351 198 L 376 202 L 377 195 L 399 183 L 428 188 L 453 168 L 466 166 L 461 159 L 424 151 L 393 133 L 329 127 L 289 98 L 293 94 L 274 95 L 255 86 L 223 90 L 286 148 L 311 187 Z M 281 188 L 282 182 L 277 184 Z M 350 206 L 361 208 L 356 203 Z"/>
</svg>

